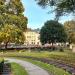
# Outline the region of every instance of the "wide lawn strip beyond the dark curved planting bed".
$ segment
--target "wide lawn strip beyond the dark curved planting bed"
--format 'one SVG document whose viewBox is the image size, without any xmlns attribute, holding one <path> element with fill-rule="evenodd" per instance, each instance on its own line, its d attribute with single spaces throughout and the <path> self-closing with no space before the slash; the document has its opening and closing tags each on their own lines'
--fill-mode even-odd
<svg viewBox="0 0 75 75">
<path fill-rule="evenodd" d="M 62 61 L 66 64 L 70 64 L 75 66 L 75 53 L 72 53 L 71 51 L 67 52 L 59 52 L 59 51 L 15 51 L 15 52 L 5 52 L 3 56 L 30 56 L 30 57 L 37 57 L 37 58 L 47 58 L 47 59 L 54 59 L 56 61 Z M 2 56 L 2 54 L 0 54 Z"/>
</svg>

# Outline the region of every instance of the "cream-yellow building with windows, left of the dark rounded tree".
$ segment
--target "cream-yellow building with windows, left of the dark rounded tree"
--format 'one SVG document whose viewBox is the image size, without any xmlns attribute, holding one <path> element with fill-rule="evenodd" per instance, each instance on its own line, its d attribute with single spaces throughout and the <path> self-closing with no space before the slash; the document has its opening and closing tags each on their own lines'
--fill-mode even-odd
<svg viewBox="0 0 75 75">
<path fill-rule="evenodd" d="M 40 34 L 34 30 L 27 30 L 24 32 L 25 35 L 25 45 L 41 45 Z"/>
</svg>

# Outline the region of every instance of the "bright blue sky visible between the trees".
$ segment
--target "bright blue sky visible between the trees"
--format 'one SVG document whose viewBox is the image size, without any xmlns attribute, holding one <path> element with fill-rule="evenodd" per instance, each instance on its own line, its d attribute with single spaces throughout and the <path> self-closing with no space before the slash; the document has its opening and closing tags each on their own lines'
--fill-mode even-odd
<svg viewBox="0 0 75 75">
<path fill-rule="evenodd" d="M 41 28 L 47 20 L 53 20 L 55 17 L 54 13 L 48 13 L 50 8 L 43 9 L 35 0 L 22 0 L 22 3 L 25 8 L 24 16 L 28 18 L 28 28 Z M 59 22 L 64 23 L 71 19 L 71 16 L 65 16 Z"/>
</svg>

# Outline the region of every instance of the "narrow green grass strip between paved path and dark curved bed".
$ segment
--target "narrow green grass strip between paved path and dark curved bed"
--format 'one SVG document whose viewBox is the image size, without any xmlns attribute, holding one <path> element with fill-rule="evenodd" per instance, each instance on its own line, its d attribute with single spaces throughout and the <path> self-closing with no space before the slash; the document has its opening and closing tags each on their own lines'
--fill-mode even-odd
<svg viewBox="0 0 75 75">
<path fill-rule="evenodd" d="M 18 59 L 31 62 L 32 64 L 35 64 L 35 65 L 47 70 L 48 73 L 52 74 L 52 75 L 71 75 L 67 71 L 60 69 L 60 68 L 57 68 L 57 67 L 50 65 L 50 64 L 47 64 L 47 63 L 43 63 L 40 61 L 31 60 L 31 59 L 26 59 L 26 58 L 18 58 Z"/>
</svg>

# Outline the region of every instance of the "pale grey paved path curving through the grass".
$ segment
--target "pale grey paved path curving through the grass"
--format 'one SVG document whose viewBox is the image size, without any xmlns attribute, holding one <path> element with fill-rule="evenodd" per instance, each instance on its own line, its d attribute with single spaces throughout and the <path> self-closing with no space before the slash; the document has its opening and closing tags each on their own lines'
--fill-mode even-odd
<svg viewBox="0 0 75 75">
<path fill-rule="evenodd" d="M 49 75 L 47 71 L 45 71 L 44 69 L 42 69 L 36 65 L 33 65 L 30 62 L 18 60 L 18 59 L 12 59 L 12 58 L 5 58 L 5 59 L 9 60 L 9 62 L 16 62 L 16 63 L 20 64 L 27 70 L 29 75 Z"/>
</svg>

